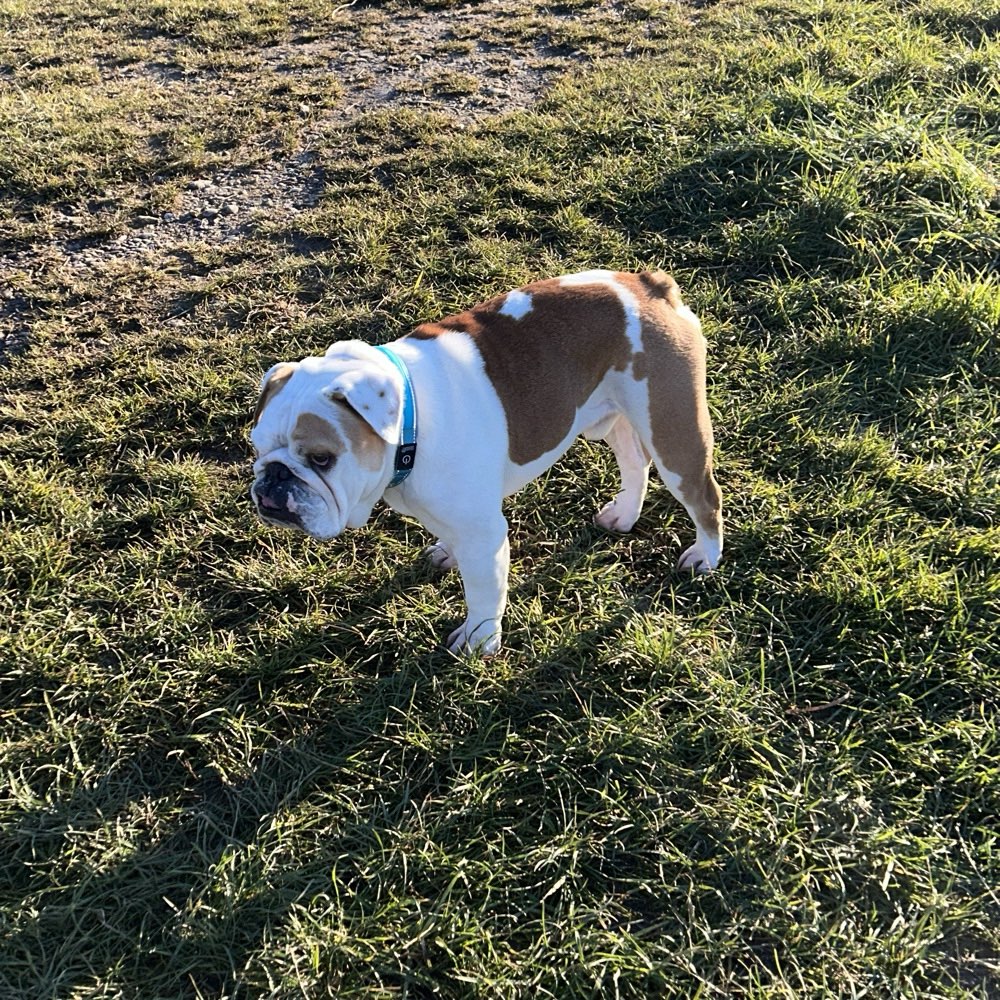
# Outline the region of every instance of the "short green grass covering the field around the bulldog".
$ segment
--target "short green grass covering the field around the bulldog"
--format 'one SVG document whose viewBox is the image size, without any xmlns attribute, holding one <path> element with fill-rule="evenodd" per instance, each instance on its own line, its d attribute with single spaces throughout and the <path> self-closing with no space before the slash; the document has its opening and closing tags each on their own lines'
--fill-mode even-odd
<svg viewBox="0 0 1000 1000">
<path fill-rule="evenodd" d="M 262 46 L 378 43 L 364 5 L 104 7 L 0 7 L 15 249 L 290 148 L 338 82 Z M 528 111 L 366 114 L 254 238 L 12 269 L 4 995 L 1000 996 L 1000 10 L 565 7 L 488 28 L 594 60 Z M 596 265 L 704 319 L 715 575 L 671 573 L 662 489 L 591 527 L 589 444 L 509 505 L 491 662 L 437 647 L 412 523 L 256 523 L 273 361 Z"/>
</svg>

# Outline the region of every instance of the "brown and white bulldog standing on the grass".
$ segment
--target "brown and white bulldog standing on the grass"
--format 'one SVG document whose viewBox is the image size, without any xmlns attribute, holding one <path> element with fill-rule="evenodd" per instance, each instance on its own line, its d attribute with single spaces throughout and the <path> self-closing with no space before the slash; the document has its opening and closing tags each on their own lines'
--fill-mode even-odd
<svg viewBox="0 0 1000 1000">
<path fill-rule="evenodd" d="M 265 521 L 315 538 L 361 527 L 380 498 L 421 521 L 437 536 L 433 564 L 462 576 L 467 615 L 451 650 L 499 647 L 510 566 L 501 501 L 580 434 L 607 441 L 621 471 L 600 526 L 635 524 L 652 461 L 694 522 L 679 568 L 718 564 L 705 339 L 669 275 L 538 281 L 387 347 L 402 368 L 352 340 L 264 376 L 251 495 Z M 390 485 L 408 392 L 418 451 L 407 478 Z"/>
</svg>

